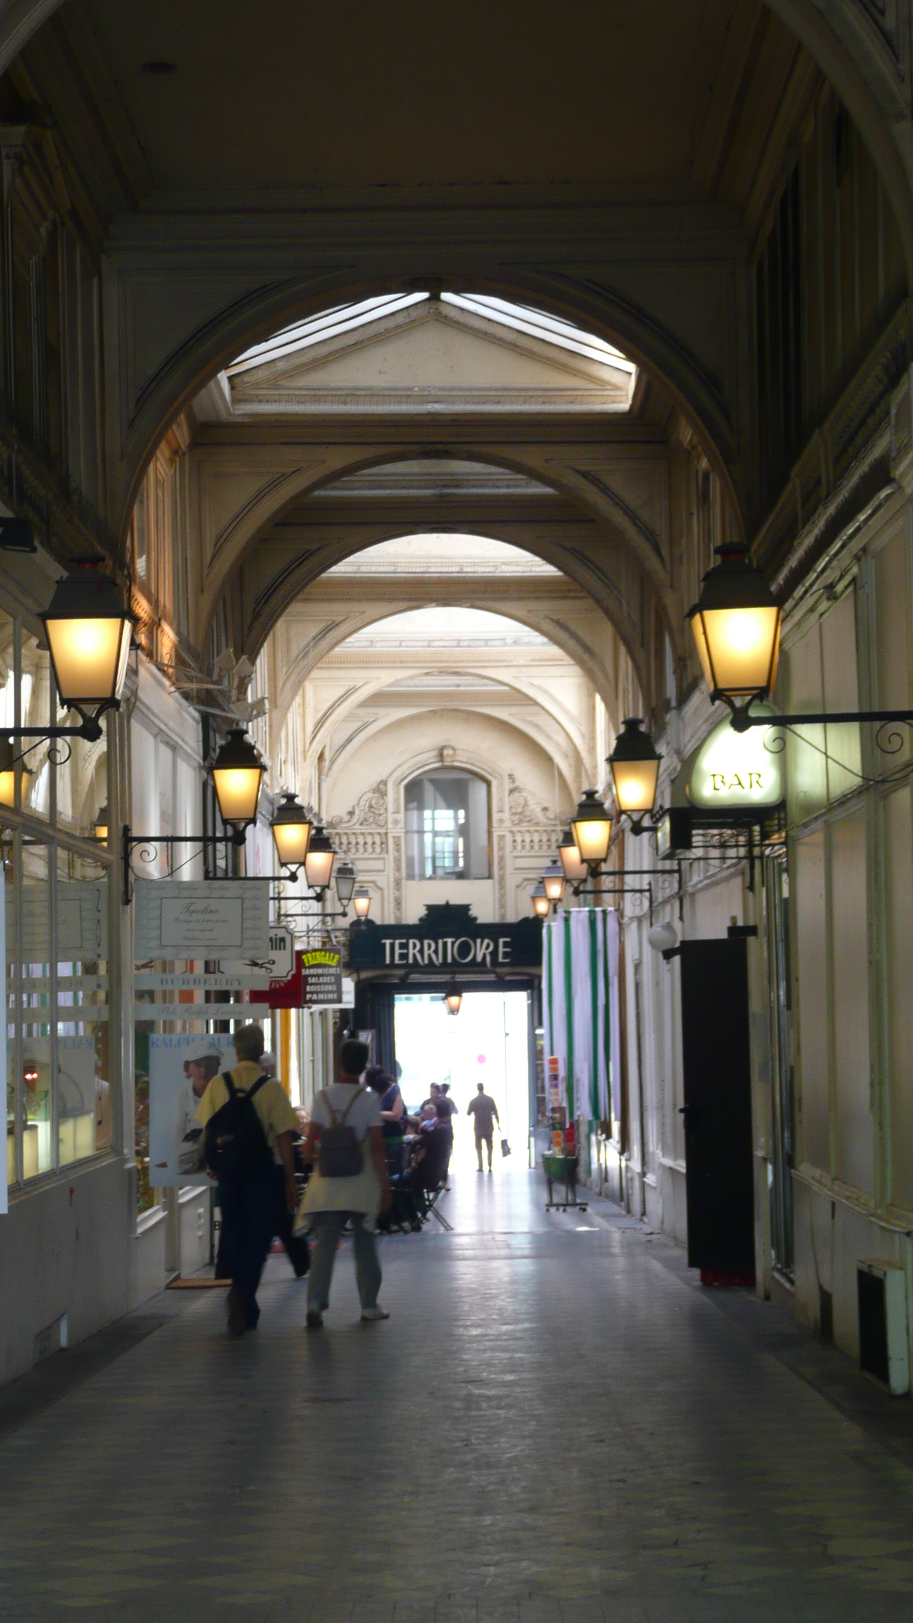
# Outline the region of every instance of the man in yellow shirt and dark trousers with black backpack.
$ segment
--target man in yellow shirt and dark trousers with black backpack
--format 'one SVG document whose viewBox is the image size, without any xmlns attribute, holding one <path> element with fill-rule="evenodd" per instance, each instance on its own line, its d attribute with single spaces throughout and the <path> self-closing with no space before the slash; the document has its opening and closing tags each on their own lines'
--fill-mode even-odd
<svg viewBox="0 0 913 1623">
<path fill-rule="evenodd" d="M 219 1183 L 223 1259 L 232 1285 L 227 1297 L 231 1336 L 255 1329 L 257 1287 L 276 1230 L 276 1164 L 284 1170 L 288 1209 L 297 1204 L 292 1138 L 297 1117 L 275 1078 L 260 1065 L 260 1026 L 239 1026 L 237 1065 L 213 1076 L 197 1110 L 203 1126 L 203 1159 Z"/>
</svg>

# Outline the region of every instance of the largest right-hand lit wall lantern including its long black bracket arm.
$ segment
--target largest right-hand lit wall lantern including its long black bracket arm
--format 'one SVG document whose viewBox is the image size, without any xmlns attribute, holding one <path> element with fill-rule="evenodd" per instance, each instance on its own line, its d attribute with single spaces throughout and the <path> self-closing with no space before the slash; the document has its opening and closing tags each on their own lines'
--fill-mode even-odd
<svg viewBox="0 0 913 1623">
<path fill-rule="evenodd" d="M 736 732 L 749 727 L 804 727 L 824 722 L 913 722 L 913 711 L 803 711 L 755 716 L 751 706 L 770 698 L 780 657 L 781 612 L 746 547 L 718 547 L 720 563 L 703 576 L 700 597 L 689 609 L 703 680 L 712 700 L 733 712 Z"/>
</svg>

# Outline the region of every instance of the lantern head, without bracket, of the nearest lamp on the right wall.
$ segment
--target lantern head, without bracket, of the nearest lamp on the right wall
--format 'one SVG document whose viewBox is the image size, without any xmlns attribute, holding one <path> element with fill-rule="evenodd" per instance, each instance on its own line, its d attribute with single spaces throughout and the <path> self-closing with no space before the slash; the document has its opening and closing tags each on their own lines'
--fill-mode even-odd
<svg viewBox="0 0 913 1623">
<path fill-rule="evenodd" d="M 703 680 L 712 698 L 767 698 L 777 682 L 780 607 L 744 547 L 718 547 L 716 555 L 687 615 Z"/>
</svg>

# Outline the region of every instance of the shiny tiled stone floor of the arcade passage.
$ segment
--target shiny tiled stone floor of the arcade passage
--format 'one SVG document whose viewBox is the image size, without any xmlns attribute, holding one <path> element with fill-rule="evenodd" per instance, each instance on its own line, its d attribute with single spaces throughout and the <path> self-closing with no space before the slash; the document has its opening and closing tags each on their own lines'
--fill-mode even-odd
<svg viewBox="0 0 913 1623">
<path fill-rule="evenodd" d="M 908 1623 L 910 1404 L 543 1199 L 461 1170 L 453 1233 L 383 1243 L 388 1323 L 346 1248 L 304 1334 L 271 1258 L 242 1342 L 167 1292 L 6 1388 L 0 1618 Z"/>
</svg>

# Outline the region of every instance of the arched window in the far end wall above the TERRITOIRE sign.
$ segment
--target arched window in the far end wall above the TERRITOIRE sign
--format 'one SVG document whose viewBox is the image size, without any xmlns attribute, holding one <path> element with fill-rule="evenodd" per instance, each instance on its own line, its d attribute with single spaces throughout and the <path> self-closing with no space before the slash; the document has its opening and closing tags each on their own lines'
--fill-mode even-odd
<svg viewBox="0 0 913 1623">
<path fill-rule="evenodd" d="M 489 789 L 439 768 L 406 784 L 406 878 L 487 880 Z"/>
</svg>

